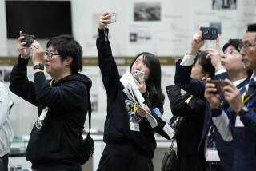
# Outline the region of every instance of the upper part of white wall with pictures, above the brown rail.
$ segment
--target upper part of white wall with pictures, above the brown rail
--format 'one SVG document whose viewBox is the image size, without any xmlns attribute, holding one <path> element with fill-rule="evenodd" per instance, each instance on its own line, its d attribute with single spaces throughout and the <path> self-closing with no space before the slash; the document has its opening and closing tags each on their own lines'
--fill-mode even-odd
<svg viewBox="0 0 256 171">
<path fill-rule="evenodd" d="M 114 55 L 134 55 L 148 50 L 158 55 L 182 55 L 190 43 L 191 35 L 200 25 L 219 22 L 222 27 L 222 45 L 229 38 L 242 38 L 246 25 L 256 22 L 255 0 L 237 1 L 235 9 L 212 9 L 218 0 L 71 0 L 74 38 L 82 44 L 85 56 L 96 56 L 98 15 L 104 11 L 118 13 L 118 21 L 110 25 L 110 42 Z M 134 21 L 134 4 L 159 4 L 161 20 Z M 145 5 L 147 6 L 147 5 Z M 6 40 L 5 1 L 0 1 L 0 56 L 14 55 L 16 40 Z M 50 29 L 46 27 L 46 29 Z M 142 38 L 130 42 L 130 33 Z M 143 37 L 150 37 L 144 40 Z M 45 44 L 45 41 L 40 41 Z M 7 46 L 7 48 L 6 48 Z M 209 45 L 206 45 L 209 46 Z"/>
</svg>

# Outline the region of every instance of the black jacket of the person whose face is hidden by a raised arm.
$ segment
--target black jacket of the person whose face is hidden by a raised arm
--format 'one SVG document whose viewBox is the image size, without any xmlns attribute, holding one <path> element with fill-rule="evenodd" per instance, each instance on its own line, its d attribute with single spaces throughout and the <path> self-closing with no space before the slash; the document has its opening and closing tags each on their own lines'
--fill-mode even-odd
<svg viewBox="0 0 256 171">
<path fill-rule="evenodd" d="M 181 89 L 176 85 L 167 86 L 166 91 L 173 115 L 182 117 L 176 134 L 179 170 L 201 170 L 205 160 L 203 148 L 198 151 L 198 147 L 202 137 L 206 102 L 198 97 L 192 97 L 189 103 L 184 102 Z"/>
</svg>

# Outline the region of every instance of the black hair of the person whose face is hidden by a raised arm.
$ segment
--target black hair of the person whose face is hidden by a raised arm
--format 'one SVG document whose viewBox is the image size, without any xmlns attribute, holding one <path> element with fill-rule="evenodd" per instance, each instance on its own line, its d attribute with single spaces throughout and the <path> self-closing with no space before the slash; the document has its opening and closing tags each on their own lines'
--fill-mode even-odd
<svg viewBox="0 0 256 171">
<path fill-rule="evenodd" d="M 195 63 L 199 60 L 199 64 L 202 66 L 202 72 L 209 74 L 210 78 L 214 77 L 215 74 L 215 68 L 210 62 L 210 58 L 206 59 L 207 54 L 209 54 L 206 51 L 198 51 L 198 54 L 196 55 L 194 59 L 193 66 Z"/>
</svg>

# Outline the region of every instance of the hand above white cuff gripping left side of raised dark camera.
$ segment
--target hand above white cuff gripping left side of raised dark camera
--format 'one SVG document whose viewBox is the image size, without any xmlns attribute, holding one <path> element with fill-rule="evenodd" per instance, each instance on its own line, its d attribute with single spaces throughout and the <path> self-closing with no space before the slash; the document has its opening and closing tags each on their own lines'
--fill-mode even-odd
<svg viewBox="0 0 256 171">
<path fill-rule="evenodd" d="M 191 40 L 191 47 L 188 50 L 188 55 L 196 55 L 198 50 L 205 44 L 205 41 L 202 40 L 202 31 L 198 31 L 198 33 L 194 34 Z"/>
</svg>

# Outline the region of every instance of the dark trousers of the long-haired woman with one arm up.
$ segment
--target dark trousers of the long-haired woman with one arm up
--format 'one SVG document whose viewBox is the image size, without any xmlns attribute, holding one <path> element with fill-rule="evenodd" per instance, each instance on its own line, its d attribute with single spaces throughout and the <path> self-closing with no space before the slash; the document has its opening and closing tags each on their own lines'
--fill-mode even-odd
<svg viewBox="0 0 256 171">
<path fill-rule="evenodd" d="M 97 171 L 153 171 L 153 163 L 132 145 L 106 144 Z"/>
</svg>

